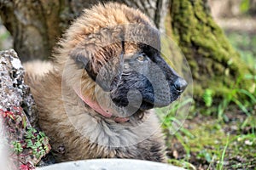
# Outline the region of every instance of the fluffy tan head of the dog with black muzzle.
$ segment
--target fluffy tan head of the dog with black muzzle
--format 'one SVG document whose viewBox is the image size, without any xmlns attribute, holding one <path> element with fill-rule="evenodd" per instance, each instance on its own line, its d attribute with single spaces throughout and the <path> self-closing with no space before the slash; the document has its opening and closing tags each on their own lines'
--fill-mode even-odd
<svg viewBox="0 0 256 170">
<path fill-rule="evenodd" d="M 161 57 L 159 31 L 135 9 L 116 3 L 93 8 L 68 32 L 68 56 L 117 107 L 166 106 L 187 86 Z"/>
</svg>

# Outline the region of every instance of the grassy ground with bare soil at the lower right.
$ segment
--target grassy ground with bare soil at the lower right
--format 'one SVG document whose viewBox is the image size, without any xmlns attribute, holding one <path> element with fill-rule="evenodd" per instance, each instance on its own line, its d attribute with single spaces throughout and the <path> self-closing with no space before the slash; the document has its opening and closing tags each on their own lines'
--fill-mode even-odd
<svg viewBox="0 0 256 170">
<path fill-rule="evenodd" d="M 226 121 L 191 113 L 183 129 L 167 136 L 169 161 L 189 169 L 255 169 L 255 111 L 247 116 L 234 105 L 224 114 Z"/>
</svg>

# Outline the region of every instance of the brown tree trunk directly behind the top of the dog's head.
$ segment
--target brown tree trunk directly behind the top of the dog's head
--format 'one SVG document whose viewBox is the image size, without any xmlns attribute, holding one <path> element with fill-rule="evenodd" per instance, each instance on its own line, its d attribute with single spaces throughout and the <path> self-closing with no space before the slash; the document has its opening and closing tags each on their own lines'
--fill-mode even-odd
<svg viewBox="0 0 256 170">
<path fill-rule="evenodd" d="M 103 2 L 108 2 L 104 0 Z M 102 2 L 102 1 L 101 1 Z M 163 26 L 167 0 L 116 0 L 148 14 L 157 27 Z M 14 37 L 14 47 L 22 61 L 48 59 L 55 42 L 83 8 L 97 0 L 0 0 L 3 24 Z"/>
</svg>

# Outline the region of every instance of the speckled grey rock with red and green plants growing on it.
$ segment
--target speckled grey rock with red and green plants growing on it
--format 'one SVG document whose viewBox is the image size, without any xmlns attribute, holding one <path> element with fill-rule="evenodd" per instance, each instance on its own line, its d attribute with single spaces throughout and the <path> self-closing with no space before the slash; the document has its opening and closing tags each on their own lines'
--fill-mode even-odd
<svg viewBox="0 0 256 170">
<path fill-rule="evenodd" d="M 0 118 L 5 129 L 0 135 L 8 141 L 8 155 L 14 164 L 32 169 L 50 146 L 48 138 L 38 131 L 36 104 L 24 82 L 25 71 L 15 50 L 0 52 L 0 75 Z M 0 140 L 0 144 L 5 141 Z"/>
</svg>

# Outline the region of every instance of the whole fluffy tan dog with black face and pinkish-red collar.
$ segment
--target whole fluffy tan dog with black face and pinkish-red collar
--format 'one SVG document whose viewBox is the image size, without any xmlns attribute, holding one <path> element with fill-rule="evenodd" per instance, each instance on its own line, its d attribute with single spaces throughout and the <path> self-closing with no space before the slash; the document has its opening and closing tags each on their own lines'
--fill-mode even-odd
<svg viewBox="0 0 256 170">
<path fill-rule="evenodd" d="M 160 57 L 159 31 L 118 3 L 85 9 L 55 49 L 53 68 L 27 83 L 57 161 L 134 158 L 166 161 L 154 107 L 187 83 Z"/>
</svg>

